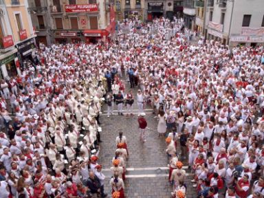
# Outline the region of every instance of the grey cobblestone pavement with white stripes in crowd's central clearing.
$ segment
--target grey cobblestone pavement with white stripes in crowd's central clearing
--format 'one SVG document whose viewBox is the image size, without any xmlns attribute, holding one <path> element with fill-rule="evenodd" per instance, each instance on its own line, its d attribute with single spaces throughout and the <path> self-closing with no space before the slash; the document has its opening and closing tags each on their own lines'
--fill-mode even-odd
<svg viewBox="0 0 264 198">
<path fill-rule="evenodd" d="M 129 84 L 126 84 L 128 87 Z M 134 90 L 134 96 L 135 96 Z M 168 159 L 166 157 L 165 137 L 158 137 L 157 134 L 157 118 L 154 118 L 152 111 L 147 107 L 146 120 L 148 122 L 147 139 L 143 144 L 139 139 L 139 131 L 137 125 L 137 105 L 134 103 L 135 115 L 126 117 L 125 115 L 111 115 L 107 118 L 106 107 L 103 107 L 104 112 L 100 115 L 102 123 L 102 133 L 100 144 L 101 152 L 99 163 L 102 164 L 103 173 L 107 176 L 104 183 L 105 192 L 110 194 L 111 187 L 109 180 L 111 172 L 111 159 L 115 153 L 115 137 L 122 131 L 128 141 L 129 160 L 126 162 L 126 181 L 125 195 L 126 198 L 133 197 L 171 197 L 170 192 L 173 188 L 168 183 Z M 116 110 L 117 107 L 114 107 Z M 187 170 L 188 172 L 188 170 Z M 190 173 L 188 173 L 191 175 Z M 188 186 L 187 197 L 196 197 L 195 190 L 190 184 L 192 176 L 188 176 L 186 184 Z"/>
</svg>

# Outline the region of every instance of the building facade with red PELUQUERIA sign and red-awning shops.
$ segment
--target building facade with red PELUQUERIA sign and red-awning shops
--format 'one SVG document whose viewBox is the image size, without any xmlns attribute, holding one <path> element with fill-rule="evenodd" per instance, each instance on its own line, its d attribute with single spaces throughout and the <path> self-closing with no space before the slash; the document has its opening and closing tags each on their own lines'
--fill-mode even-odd
<svg viewBox="0 0 264 198">
<path fill-rule="evenodd" d="M 51 43 L 107 41 L 114 28 L 105 0 L 29 0 L 36 40 Z M 114 19 L 115 21 L 115 19 Z"/>
</svg>

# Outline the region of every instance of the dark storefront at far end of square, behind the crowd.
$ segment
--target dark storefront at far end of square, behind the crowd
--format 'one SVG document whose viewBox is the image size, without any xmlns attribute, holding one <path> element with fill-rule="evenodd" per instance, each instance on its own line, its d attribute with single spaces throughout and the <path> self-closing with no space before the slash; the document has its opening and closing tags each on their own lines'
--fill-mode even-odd
<svg viewBox="0 0 264 198">
<path fill-rule="evenodd" d="M 147 21 L 164 17 L 164 4 L 162 2 L 149 2 L 147 5 Z"/>
</svg>

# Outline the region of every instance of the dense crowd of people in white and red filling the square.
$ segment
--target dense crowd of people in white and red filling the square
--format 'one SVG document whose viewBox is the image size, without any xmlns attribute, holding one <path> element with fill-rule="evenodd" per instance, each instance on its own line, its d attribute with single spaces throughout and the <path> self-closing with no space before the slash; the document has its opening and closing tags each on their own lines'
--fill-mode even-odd
<svg viewBox="0 0 264 198">
<path fill-rule="evenodd" d="M 104 103 L 108 117 L 115 104 L 120 116 L 139 113 L 142 142 L 144 109 L 153 108 L 159 137 L 167 136 L 173 197 L 192 188 L 183 162 L 198 197 L 223 189 L 225 197 L 263 197 L 263 46 L 191 44 L 182 19 L 121 25 L 129 33 L 120 30 L 115 43 L 41 45 L 34 65 L 1 80 L 0 197 L 107 197 L 98 159 Z M 123 198 L 122 132 L 114 144 L 111 196 Z"/>
</svg>

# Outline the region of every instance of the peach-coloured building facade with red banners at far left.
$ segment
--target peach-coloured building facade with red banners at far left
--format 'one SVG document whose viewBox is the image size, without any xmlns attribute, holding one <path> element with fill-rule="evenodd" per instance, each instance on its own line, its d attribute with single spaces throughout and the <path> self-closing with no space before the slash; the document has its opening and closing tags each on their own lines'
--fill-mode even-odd
<svg viewBox="0 0 264 198">
<path fill-rule="evenodd" d="M 33 61 L 36 37 L 28 1 L 0 1 L 0 78 L 21 74 L 28 60 Z"/>
</svg>

